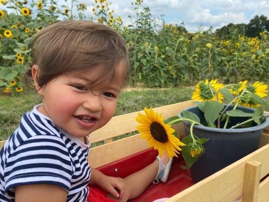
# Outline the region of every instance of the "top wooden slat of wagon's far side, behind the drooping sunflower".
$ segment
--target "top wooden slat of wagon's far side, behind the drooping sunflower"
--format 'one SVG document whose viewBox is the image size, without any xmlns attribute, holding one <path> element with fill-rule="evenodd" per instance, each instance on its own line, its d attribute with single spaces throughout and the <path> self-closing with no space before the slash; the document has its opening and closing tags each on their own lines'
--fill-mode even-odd
<svg viewBox="0 0 269 202">
<path fill-rule="evenodd" d="M 177 116 L 183 109 L 192 106 L 194 106 L 193 101 L 189 100 L 182 103 L 154 108 L 154 111 L 162 113 L 164 119 L 167 119 L 172 116 Z M 136 122 L 135 118 L 137 117 L 138 113 L 144 114 L 144 111 L 113 117 L 109 123 L 89 135 L 91 142 L 97 142 L 107 138 L 112 138 L 125 133 L 136 131 L 136 126 L 138 123 Z"/>
</svg>

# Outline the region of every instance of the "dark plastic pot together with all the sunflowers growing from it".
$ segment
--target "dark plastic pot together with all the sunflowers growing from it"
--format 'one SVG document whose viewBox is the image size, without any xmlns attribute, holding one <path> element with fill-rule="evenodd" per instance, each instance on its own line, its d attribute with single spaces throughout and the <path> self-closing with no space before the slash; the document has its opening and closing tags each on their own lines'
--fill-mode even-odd
<svg viewBox="0 0 269 202">
<path fill-rule="evenodd" d="M 145 115 L 138 115 L 141 125 L 137 128 L 141 137 L 159 150 L 159 155 L 165 149 L 172 158 L 182 150 L 192 179 L 198 182 L 258 149 L 262 131 L 269 124 L 261 107 L 266 106 L 262 99 L 266 92 L 263 82 L 224 85 L 217 79 L 206 79 L 195 86 L 195 107 L 167 120 L 145 108 Z M 181 140 L 171 127 L 180 122 L 184 123 L 185 134 L 189 134 Z"/>
</svg>

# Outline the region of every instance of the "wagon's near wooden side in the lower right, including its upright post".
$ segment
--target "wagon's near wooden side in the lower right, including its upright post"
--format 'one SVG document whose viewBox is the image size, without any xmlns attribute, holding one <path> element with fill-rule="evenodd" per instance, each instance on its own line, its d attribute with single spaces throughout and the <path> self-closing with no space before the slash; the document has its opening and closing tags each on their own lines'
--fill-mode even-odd
<svg viewBox="0 0 269 202">
<path fill-rule="evenodd" d="M 269 144 L 171 197 L 168 202 L 268 202 Z"/>
</svg>

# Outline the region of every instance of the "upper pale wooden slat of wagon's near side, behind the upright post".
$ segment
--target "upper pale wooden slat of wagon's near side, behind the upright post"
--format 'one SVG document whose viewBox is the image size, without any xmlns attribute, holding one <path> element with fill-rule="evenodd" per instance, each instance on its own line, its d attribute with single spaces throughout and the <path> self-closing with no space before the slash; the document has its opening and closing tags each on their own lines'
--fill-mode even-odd
<svg viewBox="0 0 269 202">
<path fill-rule="evenodd" d="M 269 144 L 174 195 L 167 202 L 231 202 L 242 194 L 245 163 L 249 160 L 261 162 L 260 177 L 262 178 L 269 173 L 268 156 Z"/>
</svg>

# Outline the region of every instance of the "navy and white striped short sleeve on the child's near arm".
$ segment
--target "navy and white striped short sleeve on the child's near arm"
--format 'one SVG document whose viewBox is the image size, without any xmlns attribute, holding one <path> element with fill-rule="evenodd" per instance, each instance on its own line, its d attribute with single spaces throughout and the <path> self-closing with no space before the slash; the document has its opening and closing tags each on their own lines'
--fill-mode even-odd
<svg viewBox="0 0 269 202">
<path fill-rule="evenodd" d="M 5 194 L 13 198 L 16 186 L 28 184 L 57 185 L 69 192 L 72 173 L 64 140 L 55 135 L 36 135 L 10 154 L 4 171 Z"/>
</svg>

